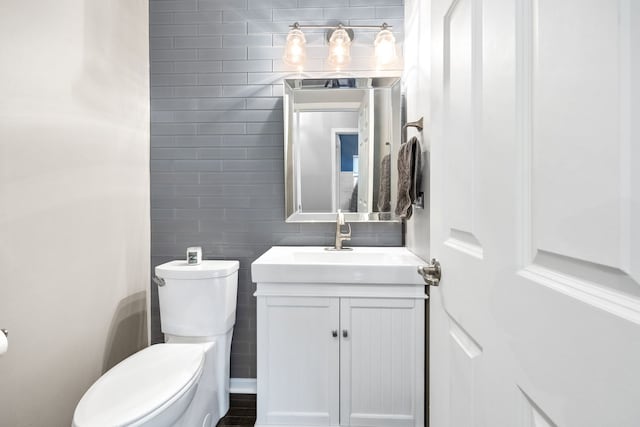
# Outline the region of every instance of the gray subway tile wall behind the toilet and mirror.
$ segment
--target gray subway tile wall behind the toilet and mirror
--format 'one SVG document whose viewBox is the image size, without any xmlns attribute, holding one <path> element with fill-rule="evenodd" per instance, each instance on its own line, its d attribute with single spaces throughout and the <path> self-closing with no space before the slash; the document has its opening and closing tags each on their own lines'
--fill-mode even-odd
<svg viewBox="0 0 640 427">
<path fill-rule="evenodd" d="M 331 224 L 284 222 L 282 61 L 289 25 L 394 26 L 402 0 L 151 0 L 152 265 L 202 246 L 240 261 L 231 376 L 256 376 L 251 263 L 274 245 L 331 245 Z M 332 71 L 322 31 L 305 31 L 305 72 Z M 375 32 L 356 31 L 346 72 L 373 70 Z M 390 70 L 401 71 L 401 59 Z M 395 67 L 395 68 L 394 68 Z M 353 245 L 399 246 L 400 224 L 353 224 Z M 157 288 L 152 341 L 163 340 Z"/>
</svg>

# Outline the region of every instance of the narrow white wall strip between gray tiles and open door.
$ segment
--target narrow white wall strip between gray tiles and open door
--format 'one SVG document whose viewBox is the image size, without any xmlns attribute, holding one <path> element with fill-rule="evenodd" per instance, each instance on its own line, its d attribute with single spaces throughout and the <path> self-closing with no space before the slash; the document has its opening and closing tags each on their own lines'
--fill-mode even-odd
<svg viewBox="0 0 640 427">
<path fill-rule="evenodd" d="M 430 7 L 430 0 L 405 1 L 405 68 L 402 76 L 403 92 L 406 94 L 407 102 L 407 121 L 412 122 L 424 117 L 423 131 L 409 128 L 407 138 L 417 136 L 424 152 L 422 188 L 425 191 L 425 208 L 414 209 L 413 216 L 407 221 L 405 242 L 409 250 L 425 260 L 429 259 Z"/>
</svg>

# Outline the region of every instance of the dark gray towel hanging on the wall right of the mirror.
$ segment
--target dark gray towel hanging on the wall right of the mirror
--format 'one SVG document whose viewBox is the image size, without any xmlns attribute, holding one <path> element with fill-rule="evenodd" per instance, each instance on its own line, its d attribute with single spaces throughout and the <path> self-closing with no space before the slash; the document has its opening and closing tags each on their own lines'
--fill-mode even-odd
<svg viewBox="0 0 640 427">
<path fill-rule="evenodd" d="M 422 179 L 422 149 L 415 136 L 400 147 L 398 153 L 398 202 L 396 215 L 411 218 L 411 205 L 418 195 L 418 186 Z"/>
</svg>

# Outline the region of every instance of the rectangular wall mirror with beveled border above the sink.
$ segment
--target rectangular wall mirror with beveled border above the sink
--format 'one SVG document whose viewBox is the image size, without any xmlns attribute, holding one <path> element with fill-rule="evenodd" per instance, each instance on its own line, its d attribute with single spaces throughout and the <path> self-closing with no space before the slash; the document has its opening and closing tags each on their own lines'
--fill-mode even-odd
<svg viewBox="0 0 640 427">
<path fill-rule="evenodd" d="M 287 222 L 399 221 L 399 77 L 284 81 Z"/>
</svg>

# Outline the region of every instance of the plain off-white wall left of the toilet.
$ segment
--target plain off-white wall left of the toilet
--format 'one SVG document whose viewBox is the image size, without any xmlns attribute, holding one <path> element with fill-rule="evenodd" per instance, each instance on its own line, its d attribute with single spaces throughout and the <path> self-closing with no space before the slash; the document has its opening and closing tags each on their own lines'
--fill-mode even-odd
<svg viewBox="0 0 640 427">
<path fill-rule="evenodd" d="M 89 385 L 147 344 L 147 10 L 3 2 L 2 426 L 69 426 Z"/>
</svg>

